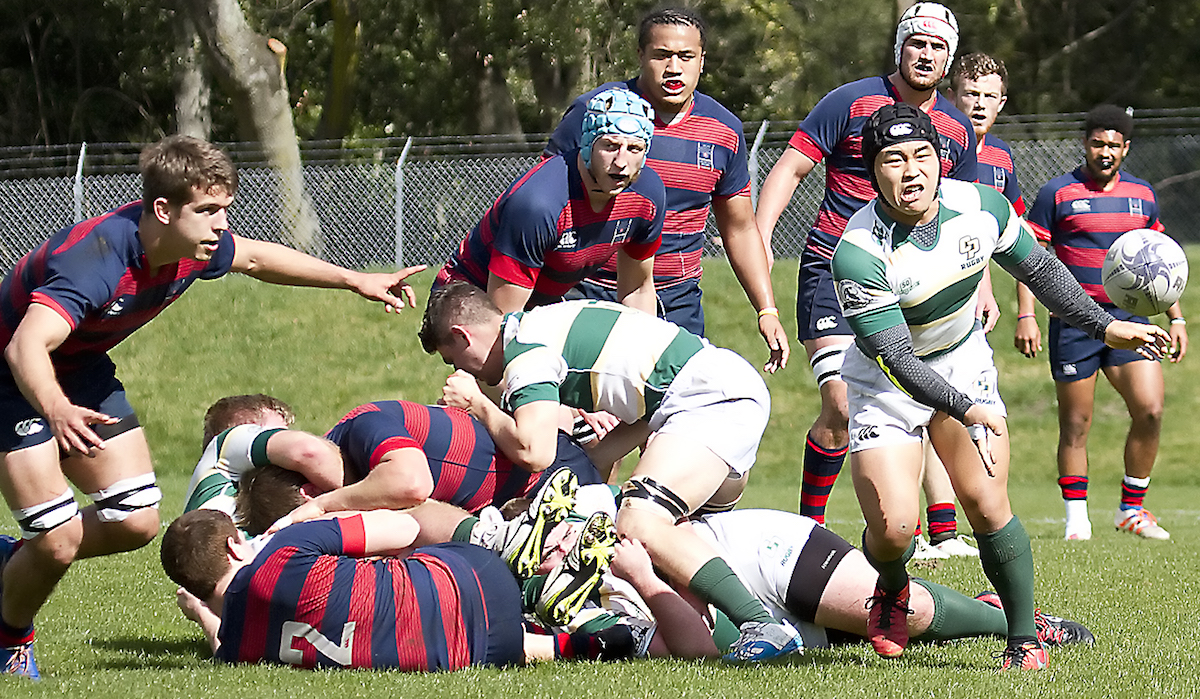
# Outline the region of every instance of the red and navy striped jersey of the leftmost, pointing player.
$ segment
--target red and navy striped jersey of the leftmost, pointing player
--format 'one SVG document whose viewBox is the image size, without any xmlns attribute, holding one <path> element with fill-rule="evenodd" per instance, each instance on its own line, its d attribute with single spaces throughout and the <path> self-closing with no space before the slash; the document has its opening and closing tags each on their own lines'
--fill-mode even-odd
<svg viewBox="0 0 1200 699">
<path fill-rule="evenodd" d="M 151 274 L 138 238 L 142 202 L 68 226 L 22 257 L 0 282 L 0 346 L 7 345 L 30 304 L 56 311 L 71 335 L 50 359 L 59 374 L 85 369 L 187 289 L 233 264 L 234 241 L 222 235 L 205 262 L 180 259 Z M 12 376 L 0 362 L 0 376 Z"/>
</svg>

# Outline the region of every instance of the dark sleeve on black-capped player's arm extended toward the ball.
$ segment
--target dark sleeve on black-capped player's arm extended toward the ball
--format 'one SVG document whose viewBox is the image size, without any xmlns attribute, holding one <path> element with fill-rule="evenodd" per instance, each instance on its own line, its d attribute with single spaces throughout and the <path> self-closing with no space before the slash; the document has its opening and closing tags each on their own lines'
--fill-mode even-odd
<svg viewBox="0 0 1200 699">
<path fill-rule="evenodd" d="M 1084 330 L 1096 340 L 1115 318 L 1088 297 L 1067 267 L 1040 245 L 1032 245 L 1019 261 L 997 256 L 996 262 L 1016 281 L 1024 282 L 1045 307 L 1067 324 Z"/>
</svg>

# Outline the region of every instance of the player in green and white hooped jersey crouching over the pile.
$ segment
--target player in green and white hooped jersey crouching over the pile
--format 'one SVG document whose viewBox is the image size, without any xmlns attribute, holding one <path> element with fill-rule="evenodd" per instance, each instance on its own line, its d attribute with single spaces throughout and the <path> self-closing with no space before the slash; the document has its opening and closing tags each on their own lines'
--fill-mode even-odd
<svg viewBox="0 0 1200 699">
<path fill-rule="evenodd" d="M 480 289 L 450 283 L 430 297 L 420 330 L 426 352 L 461 372 L 446 405 L 470 412 L 504 449 L 550 464 L 560 405 L 622 420 L 606 440 L 618 455 L 653 432 L 622 492 L 617 528 L 638 538 L 673 580 L 725 611 L 743 639 L 734 659 L 799 649 L 730 567 L 676 521 L 701 507 L 731 508 L 770 412 L 762 377 L 736 353 L 648 313 L 607 301 L 565 301 L 503 315 Z M 504 382 L 505 412 L 479 390 Z M 607 462 L 604 459 L 602 462 Z"/>
</svg>

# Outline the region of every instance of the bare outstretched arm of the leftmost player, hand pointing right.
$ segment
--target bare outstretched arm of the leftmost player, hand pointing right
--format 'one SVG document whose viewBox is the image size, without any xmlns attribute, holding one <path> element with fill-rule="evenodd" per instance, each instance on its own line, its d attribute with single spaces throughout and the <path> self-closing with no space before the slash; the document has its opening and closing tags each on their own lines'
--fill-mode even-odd
<svg viewBox="0 0 1200 699">
<path fill-rule="evenodd" d="M 365 299 L 383 301 L 389 311 L 400 311 L 406 305 L 416 307 L 416 294 L 404 280 L 425 265 L 391 273 L 354 271 L 286 245 L 234 235 L 230 269 L 269 283 L 348 289 Z"/>
</svg>

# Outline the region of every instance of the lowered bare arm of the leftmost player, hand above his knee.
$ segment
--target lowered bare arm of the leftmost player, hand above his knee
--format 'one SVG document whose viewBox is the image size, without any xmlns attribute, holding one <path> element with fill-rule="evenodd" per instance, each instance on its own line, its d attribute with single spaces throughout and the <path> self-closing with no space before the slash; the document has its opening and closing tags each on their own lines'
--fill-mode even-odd
<svg viewBox="0 0 1200 699">
<path fill-rule="evenodd" d="M 49 306 L 30 304 L 5 347 L 4 357 L 22 395 L 37 408 L 65 452 L 91 454 L 103 449 L 91 425 L 112 424 L 116 418 L 67 400 L 54 375 L 50 352 L 71 334 L 71 324 Z"/>
</svg>

